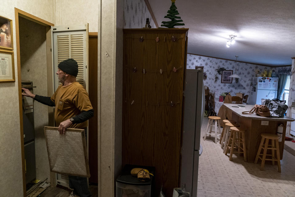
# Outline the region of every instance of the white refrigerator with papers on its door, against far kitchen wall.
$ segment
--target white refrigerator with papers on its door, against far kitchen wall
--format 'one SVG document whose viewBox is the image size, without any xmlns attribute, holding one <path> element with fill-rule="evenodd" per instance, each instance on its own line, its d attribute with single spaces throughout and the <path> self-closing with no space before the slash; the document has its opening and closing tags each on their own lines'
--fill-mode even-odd
<svg viewBox="0 0 295 197">
<path fill-rule="evenodd" d="M 278 77 L 254 77 L 251 81 L 251 93 L 248 103 L 261 105 L 261 99 L 277 98 Z"/>
</svg>

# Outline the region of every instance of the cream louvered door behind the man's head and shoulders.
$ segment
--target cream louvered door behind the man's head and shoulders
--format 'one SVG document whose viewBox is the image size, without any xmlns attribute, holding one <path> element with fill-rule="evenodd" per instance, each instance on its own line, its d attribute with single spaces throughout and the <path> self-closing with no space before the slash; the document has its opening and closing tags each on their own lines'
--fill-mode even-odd
<svg viewBox="0 0 295 197">
<path fill-rule="evenodd" d="M 88 24 L 79 26 L 54 26 L 52 32 L 54 91 L 58 82 L 57 66 L 63 60 L 73 58 L 77 61 L 79 72 L 77 82 L 88 91 Z"/>
</svg>

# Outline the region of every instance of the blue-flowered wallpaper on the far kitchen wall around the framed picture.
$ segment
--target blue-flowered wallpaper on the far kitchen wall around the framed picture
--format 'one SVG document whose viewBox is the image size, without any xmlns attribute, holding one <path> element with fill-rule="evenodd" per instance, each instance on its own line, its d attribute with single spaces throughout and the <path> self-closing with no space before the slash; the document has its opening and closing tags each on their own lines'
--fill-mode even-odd
<svg viewBox="0 0 295 197">
<path fill-rule="evenodd" d="M 221 74 L 218 74 L 216 69 L 225 68 L 226 70 L 233 70 L 234 74 L 235 61 L 187 54 L 187 69 L 195 69 L 195 66 L 204 66 L 204 73 L 206 72 L 207 75 L 207 79 L 204 80 L 204 85 L 209 87 L 210 92 L 230 92 L 232 96 L 239 92 L 250 95 L 251 78 L 255 77 L 256 70 L 259 70 L 259 73 L 262 73 L 264 70 L 275 70 L 276 73 L 278 72 L 278 68 L 237 62 L 236 74 L 241 77 L 239 81 L 236 82 L 233 78 L 232 83 L 221 83 Z M 218 77 L 216 83 L 214 83 L 215 76 Z"/>
</svg>

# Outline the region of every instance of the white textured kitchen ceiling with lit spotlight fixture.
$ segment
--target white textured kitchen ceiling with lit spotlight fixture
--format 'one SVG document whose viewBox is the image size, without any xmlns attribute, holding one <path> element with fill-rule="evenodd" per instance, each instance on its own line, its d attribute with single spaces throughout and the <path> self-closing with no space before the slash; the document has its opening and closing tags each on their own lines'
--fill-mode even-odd
<svg viewBox="0 0 295 197">
<path fill-rule="evenodd" d="M 158 25 L 170 0 L 149 0 Z M 188 53 L 281 66 L 295 57 L 295 0 L 176 0 L 188 31 Z M 229 35 L 235 44 L 226 47 Z"/>
</svg>

